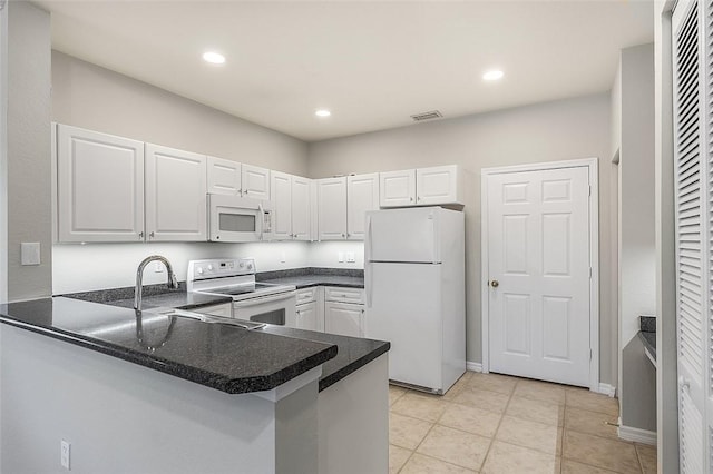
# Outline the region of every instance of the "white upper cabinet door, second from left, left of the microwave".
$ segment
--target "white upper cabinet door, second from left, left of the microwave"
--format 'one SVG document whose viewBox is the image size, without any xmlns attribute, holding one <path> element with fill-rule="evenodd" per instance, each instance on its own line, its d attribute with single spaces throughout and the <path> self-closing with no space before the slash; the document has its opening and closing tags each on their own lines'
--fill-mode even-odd
<svg viewBox="0 0 713 474">
<path fill-rule="evenodd" d="M 206 157 L 146 144 L 149 241 L 207 240 Z"/>
</svg>

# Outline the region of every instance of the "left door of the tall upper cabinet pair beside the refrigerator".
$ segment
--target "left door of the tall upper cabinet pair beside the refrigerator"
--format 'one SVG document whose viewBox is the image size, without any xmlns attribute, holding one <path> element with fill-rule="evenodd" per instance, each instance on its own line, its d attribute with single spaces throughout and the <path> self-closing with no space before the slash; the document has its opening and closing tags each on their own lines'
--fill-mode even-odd
<svg viewBox="0 0 713 474">
<path fill-rule="evenodd" d="M 318 180 L 320 240 L 346 238 L 346 178 Z"/>
</svg>

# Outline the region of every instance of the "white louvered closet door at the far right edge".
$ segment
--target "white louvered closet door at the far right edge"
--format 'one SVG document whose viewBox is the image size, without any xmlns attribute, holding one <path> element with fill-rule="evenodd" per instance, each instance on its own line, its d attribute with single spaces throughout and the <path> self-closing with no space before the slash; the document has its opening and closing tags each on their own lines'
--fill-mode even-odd
<svg viewBox="0 0 713 474">
<path fill-rule="evenodd" d="M 710 2 L 680 1 L 672 23 L 678 437 L 684 474 L 711 473 L 713 452 Z"/>
</svg>

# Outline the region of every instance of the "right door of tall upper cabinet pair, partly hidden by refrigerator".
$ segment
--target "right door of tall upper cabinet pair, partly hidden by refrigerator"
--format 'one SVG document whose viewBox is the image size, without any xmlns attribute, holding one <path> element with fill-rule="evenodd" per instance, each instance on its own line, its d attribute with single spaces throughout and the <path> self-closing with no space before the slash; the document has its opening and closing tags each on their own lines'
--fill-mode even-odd
<svg viewBox="0 0 713 474">
<path fill-rule="evenodd" d="M 346 178 L 346 238 L 364 239 L 367 211 L 379 209 L 379 174 Z"/>
</svg>

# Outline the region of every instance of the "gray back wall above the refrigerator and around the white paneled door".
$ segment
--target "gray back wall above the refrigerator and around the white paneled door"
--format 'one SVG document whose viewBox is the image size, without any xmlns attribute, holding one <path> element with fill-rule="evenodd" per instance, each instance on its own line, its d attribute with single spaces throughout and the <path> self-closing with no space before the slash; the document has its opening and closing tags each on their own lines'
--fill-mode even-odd
<svg viewBox="0 0 713 474">
<path fill-rule="evenodd" d="M 609 159 L 609 95 L 418 124 L 310 145 L 310 176 L 387 171 L 458 164 L 466 181 L 467 358 L 481 362 L 480 333 L 480 169 L 486 167 L 598 157 Z M 600 275 L 609 274 L 609 171 L 599 167 Z M 605 279 L 604 279 L 605 280 Z M 600 285 L 600 379 L 612 371 L 615 315 L 608 282 Z"/>
</svg>

